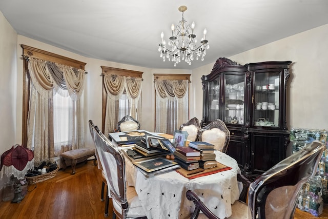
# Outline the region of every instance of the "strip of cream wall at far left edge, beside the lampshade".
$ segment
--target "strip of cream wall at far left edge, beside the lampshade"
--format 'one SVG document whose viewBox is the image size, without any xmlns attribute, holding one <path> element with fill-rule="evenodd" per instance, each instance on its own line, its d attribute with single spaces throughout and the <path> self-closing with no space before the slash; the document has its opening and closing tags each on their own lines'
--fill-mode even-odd
<svg viewBox="0 0 328 219">
<path fill-rule="evenodd" d="M 0 12 L 0 154 L 16 143 L 16 44 L 17 33 Z M 22 105 L 22 103 L 20 103 Z M 18 132 L 19 133 L 19 132 Z M 2 175 L 3 171 L 0 173 Z M 0 176 L 1 179 L 1 176 Z M 8 180 L 0 180 L 0 188 Z"/>
</svg>

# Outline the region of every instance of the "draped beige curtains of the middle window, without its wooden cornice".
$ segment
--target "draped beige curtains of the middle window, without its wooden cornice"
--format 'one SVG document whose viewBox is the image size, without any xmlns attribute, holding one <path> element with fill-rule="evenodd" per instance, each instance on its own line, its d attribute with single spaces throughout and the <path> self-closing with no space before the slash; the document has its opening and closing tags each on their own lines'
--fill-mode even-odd
<svg viewBox="0 0 328 219">
<path fill-rule="evenodd" d="M 141 83 L 141 77 L 104 75 L 107 93 L 104 133 L 113 132 L 120 118 L 127 114 L 141 124 Z M 129 111 L 126 108 L 127 104 Z"/>
</svg>

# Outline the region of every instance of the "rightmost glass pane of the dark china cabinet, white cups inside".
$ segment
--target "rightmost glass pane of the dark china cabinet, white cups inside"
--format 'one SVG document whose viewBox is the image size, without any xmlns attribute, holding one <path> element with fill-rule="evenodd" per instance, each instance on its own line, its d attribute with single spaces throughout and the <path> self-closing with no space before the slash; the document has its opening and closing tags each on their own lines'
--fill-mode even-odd
<svg viewBox="0 0 328 219">
<path fill-rule="evenodd" d="M 254 75 L 254 126 L 279 126 L 280 72 Z"/>
</svg>

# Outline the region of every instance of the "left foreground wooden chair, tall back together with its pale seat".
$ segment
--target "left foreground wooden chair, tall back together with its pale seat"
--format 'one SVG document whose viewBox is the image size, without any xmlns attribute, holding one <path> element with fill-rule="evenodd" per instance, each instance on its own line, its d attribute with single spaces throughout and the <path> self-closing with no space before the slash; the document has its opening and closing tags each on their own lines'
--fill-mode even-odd
<svg viewBox="0 0 328 219">
<path fill-rule="evenodd" d="M 122 151 L 95 128 L 95 143 L 113 201 L 113 217 L 146 218 L 134 187 L 126 185 L 125 158 Z"/>
</svg>

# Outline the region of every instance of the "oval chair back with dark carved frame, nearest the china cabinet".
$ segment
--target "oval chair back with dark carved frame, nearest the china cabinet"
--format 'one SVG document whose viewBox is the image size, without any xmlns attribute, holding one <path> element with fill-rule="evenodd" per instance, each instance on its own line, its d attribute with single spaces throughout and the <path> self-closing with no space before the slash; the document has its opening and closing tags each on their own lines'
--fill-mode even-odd
<svg viewBox="0 0 328 219">
<path fill-rule="evenodd" d="M 199 141 L 214 145 L 214 149 L 227 152 L 230 142 L 230 131 L 222 120 L 215 120 L 199 130 Z"/>
</svg>

